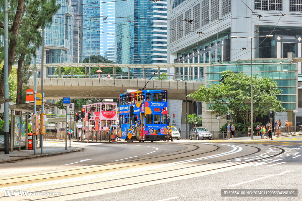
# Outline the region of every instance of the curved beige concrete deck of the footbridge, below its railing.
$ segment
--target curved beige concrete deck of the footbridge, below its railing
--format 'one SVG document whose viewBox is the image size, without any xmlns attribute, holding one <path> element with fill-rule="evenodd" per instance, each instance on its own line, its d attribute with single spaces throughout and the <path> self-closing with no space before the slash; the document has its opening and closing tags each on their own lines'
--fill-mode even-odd
<svg viewBox="0 0 302 201">
<path fill-rule="evenodd" d="M 46 99 L 71 98 L 119 98 L 127 89 L 139 90 L 149 79 L 107 79 L 76 77 L 45 77 L 44 94 Z M 150 80 L 145 89 L 168 90 L 168 99 L 185 100 L 183 80 Z M 187 81 L 187 94 L 204 85 L 201 81 Z M 34 78 L 29 79 L 29 87 L 34 88 Z M 37 91 L 41 90 L 41 78 L 37 78 Z"/>
</svg>

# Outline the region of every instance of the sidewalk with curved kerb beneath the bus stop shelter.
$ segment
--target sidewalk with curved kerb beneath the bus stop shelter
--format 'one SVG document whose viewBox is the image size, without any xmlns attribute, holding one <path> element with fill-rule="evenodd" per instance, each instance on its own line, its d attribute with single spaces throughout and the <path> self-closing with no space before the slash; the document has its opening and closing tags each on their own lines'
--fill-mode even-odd
<svg viewBox="0 0 302 201">
<path fill-rule="evenodd" d="M 0 151 L 0 164 L 3 162 L 18 161 L 23 159 L 32 159 L 43 156 L 58 155 L 70 152 L 77 152 L 82 150 L 82 148 L 69 148 L 65 150 L 65 147 L 43 147 L 43 154 L 41 154 L 41 148 L 36 148 L 36 155 L 34 155 L 34 150 L 22 150 L 9 152 L 9 154 L 4 154 L 4 151 Z"/>
</svg>

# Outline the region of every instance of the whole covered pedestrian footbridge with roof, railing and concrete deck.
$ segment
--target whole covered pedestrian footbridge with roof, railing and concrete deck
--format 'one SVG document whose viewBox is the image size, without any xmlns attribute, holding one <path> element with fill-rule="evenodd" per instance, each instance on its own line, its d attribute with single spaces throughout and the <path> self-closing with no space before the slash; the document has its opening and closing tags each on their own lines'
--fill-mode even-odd
<svg viewBox="0 0 302 201">
<path fill-rule="evenodd" d="M 106 66 L 105 66 L 106 65 Z M 74 68 L 88 69 L 89 64 L 44 64 L 44 72 L 49 72 L 48 68 L 58 68 L 55 74 L 44 74 L 43 92 L 46 99 L 71 98 L 119 98 L 125 90 L 140 90 L 145 85 L 145 89 L 168 90 L 169 99 L 185 100 L 185 85 L 187 94 L 198 90 L 204 85 L 204 76 L 197 71 L 192 72 L 193 68 L 203 68 L 206 64 L 162 64 L 162 65 L 128 65 L 128 64 L 91 64 L 91 68 L 102 69 L 103 67 L 114 68 L 114 74 L 110 78 L 105 74 L 75 74 Z M 70 74 L 62 74 L 62 68 L 71 67 Z M 33 67 L 33 66 L 31 66 Z M 41 66 L 37 65 L 38 71 Z M 116 68 L 126 68 L 128 73 L 115 74 Z M 141 69 L 142 74 L 131 74 L 132 69 Z M 168 68 L 174 68 L 178 74 L 160 73 L 163 69 L 168 72 Z M 186 74 L 179 74 L 179 69 L 187 68 Z M 148 69 L 156 69 L 156 74 L 148 73 Z M 178 69 L 178 70 L 177 70 Z M 184 72 L 184 71 L 183 71 Z M 149 81 L 149 82 L 148 82 Z M 29 87 L 34 89 L 34 78 L 29 79 Z M 37 78 L 37 92 L 41 89 L 41 77 Z"/>
</svg>

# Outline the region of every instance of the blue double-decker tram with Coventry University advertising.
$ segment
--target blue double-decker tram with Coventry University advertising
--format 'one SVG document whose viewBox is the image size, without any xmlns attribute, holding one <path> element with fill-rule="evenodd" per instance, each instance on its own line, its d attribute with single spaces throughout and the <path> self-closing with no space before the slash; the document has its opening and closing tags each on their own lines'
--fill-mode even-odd
<svg viewBox="0 0 302 201">
<path fill-rule="evenodd" d="M 167 91 L 141 90 L 120 94 L 120 137 L 126 140 L 166 140 Z"/>
</svg>

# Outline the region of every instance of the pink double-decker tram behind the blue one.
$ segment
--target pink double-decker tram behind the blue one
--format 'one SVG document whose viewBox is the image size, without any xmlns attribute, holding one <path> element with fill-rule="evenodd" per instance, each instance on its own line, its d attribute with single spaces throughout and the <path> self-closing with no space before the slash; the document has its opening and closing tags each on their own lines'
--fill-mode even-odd
<svg viewBox="0 0 302 201">
<path fill-rule="evenodd" d="M 104 99 L 104 102 L 83 105 L 85 108 L 85 125 L 88 123 L 95 130 L 106 130 L 109 124 L 117 125 L 117 103 L 112 99 Z M 90 119 L 87 119 L 87 113 L 90 111 Z M 90 130 L 89 128 L 89 130 Z"/>
</svg>

